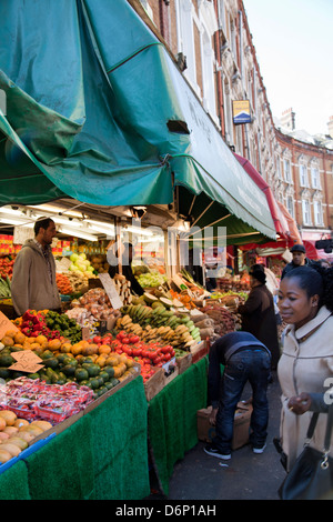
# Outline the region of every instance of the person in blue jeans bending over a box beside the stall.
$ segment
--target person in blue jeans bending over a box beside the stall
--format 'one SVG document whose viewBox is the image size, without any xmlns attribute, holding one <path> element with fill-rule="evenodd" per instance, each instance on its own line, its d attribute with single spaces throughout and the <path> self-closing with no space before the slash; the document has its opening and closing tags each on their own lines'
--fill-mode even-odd
<svg viewBox="0 0 333 522">
<path fill-rule="evenodd" d="M 221 364 L 225 367 L 223 374 Z M 248 381 L 253 392 L 250 443 L 254 453 L 264 451 L 270 367 L 270 351 L 249 332 L 226 333 L 213 343 L 209 353 L 209 395 L 212 404 L 210 423 L 215 425 L 216 435 L 205 446 L 205 453 L 231 459 L 234 413 Z"/>
</svg>

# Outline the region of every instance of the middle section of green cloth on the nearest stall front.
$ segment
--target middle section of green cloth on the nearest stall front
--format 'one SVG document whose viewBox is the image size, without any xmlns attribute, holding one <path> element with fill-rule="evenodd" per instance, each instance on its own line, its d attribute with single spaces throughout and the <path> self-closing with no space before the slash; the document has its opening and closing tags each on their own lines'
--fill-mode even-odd
<svg viewBox="0 0 333 522">
<path fill-rule="evenodd" d="M 93 496 L 92 423 L 83 415 L 26 460 L 32 500 Z"/>
</svg>

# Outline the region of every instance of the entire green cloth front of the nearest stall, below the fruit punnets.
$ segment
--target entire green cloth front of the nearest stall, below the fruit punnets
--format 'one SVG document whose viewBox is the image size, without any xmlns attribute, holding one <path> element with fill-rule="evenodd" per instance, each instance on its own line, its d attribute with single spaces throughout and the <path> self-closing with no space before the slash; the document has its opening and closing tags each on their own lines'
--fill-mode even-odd
<svg viewBox="0 0 333 522">
<path fill-rule="evenodd" d="M 2 500 L 140 500 L 150 494 L 139 375 L 0 474 Z"/>
</svg>

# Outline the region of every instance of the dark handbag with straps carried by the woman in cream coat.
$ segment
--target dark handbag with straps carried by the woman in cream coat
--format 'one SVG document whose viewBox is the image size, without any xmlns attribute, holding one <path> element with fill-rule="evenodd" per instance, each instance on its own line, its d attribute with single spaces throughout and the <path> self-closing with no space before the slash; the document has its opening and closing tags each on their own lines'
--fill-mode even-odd
<svg viewBox="0 0 333 522">
<path fill-rule="evenodd" d="M 310 448 L 319 413 L 313 413 L 304 450 L 279 489 L 282 500 L 333 500 L 333 459 L 329 456 L 333 406 L 329 408 L 324 450 Z"/>
</svg>

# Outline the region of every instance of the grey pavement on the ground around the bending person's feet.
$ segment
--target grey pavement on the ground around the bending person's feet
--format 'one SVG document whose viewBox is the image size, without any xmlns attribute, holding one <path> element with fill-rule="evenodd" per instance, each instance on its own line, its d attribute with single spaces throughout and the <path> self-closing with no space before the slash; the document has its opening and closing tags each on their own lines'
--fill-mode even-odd
<svg viewBox="0 0 333 522">
<path fill-rule="evenodd" d="M 269 385 L 270 419 L 266 448 L 254 454 L 248 444 L 232 452 L 231 460 L 222 461 L 208 455 L 204 442 L 190 450 L 178 461 L 170 479 L 169 495 L 155 499 L 168 500 L 279 500 L 278 489 L 285 478 L 280 455 L 273 444 L 280 426 L 280 384 L 275 372 Z M 251 396 L 246 384 L 242 399 Z M 151 495 L 151 499 L 154 495 Z"/>
</svg>

